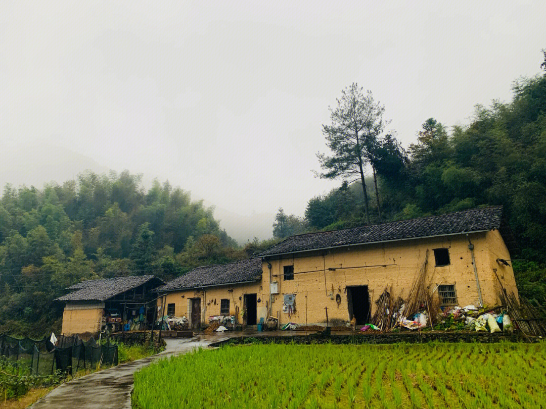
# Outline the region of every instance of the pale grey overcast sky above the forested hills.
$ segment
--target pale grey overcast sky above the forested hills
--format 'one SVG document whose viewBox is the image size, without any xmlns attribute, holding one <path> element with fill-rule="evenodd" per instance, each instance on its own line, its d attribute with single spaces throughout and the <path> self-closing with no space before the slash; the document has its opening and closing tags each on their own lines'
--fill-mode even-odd
<svg viewBox="0 0 546 409">
<path fill-rule="evenodd" d="M 407 146 L 426 118 L 465 124 L 537 74 L 545 16 L 544 1 L 3 0 L 0 182 L 128 169 L 241 215 L 301 215 L 339 184 L 312 170 L 343 87 L 371 89 Z"/>
</svg>

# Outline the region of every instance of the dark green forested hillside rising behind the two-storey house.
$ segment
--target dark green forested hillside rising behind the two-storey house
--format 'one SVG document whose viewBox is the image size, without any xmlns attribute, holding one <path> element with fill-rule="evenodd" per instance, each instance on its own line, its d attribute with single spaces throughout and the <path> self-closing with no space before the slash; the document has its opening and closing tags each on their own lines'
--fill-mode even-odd
<svg viewBox="0 0 546 409">
<path fill-rule="evenodd" d="M 546 68 L 546 62 L 544 64 Z M 502 204 L 520 246 L 518 287 L 545 301 L 546 270 L 546 76 L 514 84 L 511 103 L 476 106 L 466 127 L 427 119 L 405 150 L 393 135 L 367 152 L 377 173 L 366 177 L 372 223 Z M 339 161 L 335 163 L 339 169 Z M 370 172 L 372 173 L 372 172 Z M 379 202 L 377 202 L 377 197 Z M 379 204 L 379 206 L 378 206 Z M 381 216 L 379 215 L 381 209 Z M 280 210 L 277 238 L 305 231 L 365 224 L 360 181 L 342 183 L 311 199 L 305 218 Z"/>
</svg>

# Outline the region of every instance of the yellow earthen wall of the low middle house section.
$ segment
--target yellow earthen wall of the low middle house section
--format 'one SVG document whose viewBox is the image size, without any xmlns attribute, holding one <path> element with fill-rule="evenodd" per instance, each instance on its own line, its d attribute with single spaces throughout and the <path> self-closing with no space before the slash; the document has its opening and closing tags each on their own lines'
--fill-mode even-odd
<svg viewBox="0 0 546 409">
<path fill-rule="evenodd" d="M 243 309 L 244 294 L 256 294 L 256 298 L 260 300 L 257 303 L 258 321 L 260 319 L 260 307 L 264 307 L 266 299 L 263 297 L 262 283 L 247 283 L 231 286 L 219 286 L 203 288 L 203 290 L 176 291 L 168 293 L 165 304 L 175 304 L 175 315 L 177 317 L 186 316 L 188 320 L 191 317 L 188 315 L 189 299 L 201 299 L 201 323 L 208 324 L 209 316 L 220 315 L 220 300 L 222 298 L 229 299 L 229 314 L 235 315 L 235 307 L 239 307 L 238 321 L 242 323 L 241 311 Z M 162 298 L 158 299 L 158 306 L 162 303 Z M 167 307 L 165 306 L 165 311 Z M 262 316 L 265 316 L 265 312 Z"/>
</svg>

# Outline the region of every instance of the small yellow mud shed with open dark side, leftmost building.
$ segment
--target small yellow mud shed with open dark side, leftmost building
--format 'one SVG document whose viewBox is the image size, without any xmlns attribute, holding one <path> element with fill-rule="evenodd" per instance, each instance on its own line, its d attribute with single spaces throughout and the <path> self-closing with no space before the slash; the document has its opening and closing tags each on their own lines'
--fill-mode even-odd
<svg viewBox="0 0 546 409">
<path fill-rule="evenodd" d="M 106 324 L 106 315 L 117 315 L 121 321 L 124 312 L 130 314 L 153 300 L 156 294 L 152 290 L 162 284 L 164 281 L 154 275 L 136 275 L 87 280 L 68 287 L 73 291 L 56 299 L 66 303 L 62 334 L 96 335 Z M 145 322 L 151 320 L 153 314 L 146 314 Z"/>
</svg>

